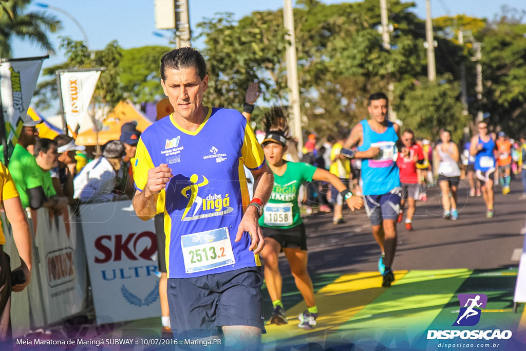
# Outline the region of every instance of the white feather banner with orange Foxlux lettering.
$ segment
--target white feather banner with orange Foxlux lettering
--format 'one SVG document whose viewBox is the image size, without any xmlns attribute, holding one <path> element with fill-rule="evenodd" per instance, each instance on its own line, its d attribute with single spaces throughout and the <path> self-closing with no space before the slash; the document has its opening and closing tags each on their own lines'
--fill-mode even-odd
<svg viewBox="0 0 526 351">
<path fill-rule="evenodd" d="M 60 72 L 60 90 L 66 124 L 75 130 L 82 123 L 95 92 L 100 71 Z"/>
</svg>

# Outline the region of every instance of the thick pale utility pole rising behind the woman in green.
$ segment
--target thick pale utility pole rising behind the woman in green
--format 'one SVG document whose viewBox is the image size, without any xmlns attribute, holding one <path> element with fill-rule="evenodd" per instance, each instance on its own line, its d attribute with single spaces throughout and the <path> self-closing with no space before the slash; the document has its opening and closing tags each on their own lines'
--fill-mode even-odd
<svg viewBox="0 0 526 351">
<path fill-rule="evenodd" d="M 283 1 L 283 23 L 287 31 L 286 39 L 290 42 L 287 45 L 287 85 L 290 89 L 289 103 L 292 107 L 292 125 L 295 137 L 298 139 L 298 148 L 303 147 L 303 133 L 301 131 L 301 110 L 299 102 L 298 84 L 298 59 L 296 57 L 296 34 L 294 28 L 294 13 L 292 12 L 292 0 Z"/>
</svg>

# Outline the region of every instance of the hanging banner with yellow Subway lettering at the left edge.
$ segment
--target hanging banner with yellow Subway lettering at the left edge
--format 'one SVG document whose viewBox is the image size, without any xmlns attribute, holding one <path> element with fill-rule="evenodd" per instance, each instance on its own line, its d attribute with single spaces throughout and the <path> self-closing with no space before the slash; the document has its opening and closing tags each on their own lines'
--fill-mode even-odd
<svg viewBox="0 0 526 351">
<path fill-rule="evenodd" d="M 18 141 L 42 62 L 48 56 L 0 60 L 0 95 L 8 150 Z"/>
</svg>

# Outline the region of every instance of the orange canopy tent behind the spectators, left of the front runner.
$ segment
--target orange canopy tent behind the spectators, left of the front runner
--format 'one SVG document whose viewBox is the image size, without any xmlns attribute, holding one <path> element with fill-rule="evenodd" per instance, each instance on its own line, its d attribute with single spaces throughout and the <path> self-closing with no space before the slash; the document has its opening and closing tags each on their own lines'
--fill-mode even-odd
<svg viewBox="0 0 526 351">
<path fill-rule="evenodd" d="M 120 137 L 120 127 L 127 122 L 136 122 L 137 130 L 144 132 L 151 122 L 149 119 L 131 104 L 129 101 L 121 101 L 115 106 L 112 112 L 103 122 L 103 130 L 98 133 L 100 145 L 104 145 L 110 140 L 118 140 Z M 79 133 L 75 139 L 77 145 L 96 145 L 97 136 L 94 131 Z"/>
</svg>

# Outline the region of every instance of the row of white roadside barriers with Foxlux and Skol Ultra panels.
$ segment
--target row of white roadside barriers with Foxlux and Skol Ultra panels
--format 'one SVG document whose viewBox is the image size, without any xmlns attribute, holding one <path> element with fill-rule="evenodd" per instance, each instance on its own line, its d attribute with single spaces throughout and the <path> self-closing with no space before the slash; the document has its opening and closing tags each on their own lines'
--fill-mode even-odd
<svg viewBox="0 0 526 351">
<path fill-rule="evenodd" d="M 28 213 L 33 270 L 27 288 L 12 294 L 14 337 L 89 307 L 88 270 L 97 323 L 160 316 L 153 219 L 138 219 L 131 200 L 81 205 L 79 212 L 79 218 L 72 207 L 62 216 L 46 208 Z M 4 213 L 2 225 L 14 269 L 20 260 Z"/>
</svg>

